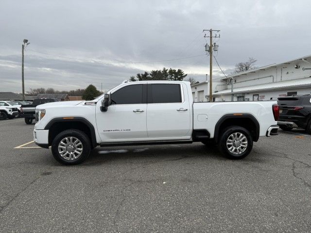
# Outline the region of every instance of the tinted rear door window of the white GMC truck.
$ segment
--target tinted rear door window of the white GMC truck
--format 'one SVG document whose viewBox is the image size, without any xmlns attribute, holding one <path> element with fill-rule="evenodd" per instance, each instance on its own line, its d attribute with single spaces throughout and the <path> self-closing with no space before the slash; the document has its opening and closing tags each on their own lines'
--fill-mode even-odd
<svg viewBox="0 0 311 233">
<path fill-rule="evenodd" d="M 148 84 L 148 103 L 181 103 L 179 84 Z"/>
</svg>

